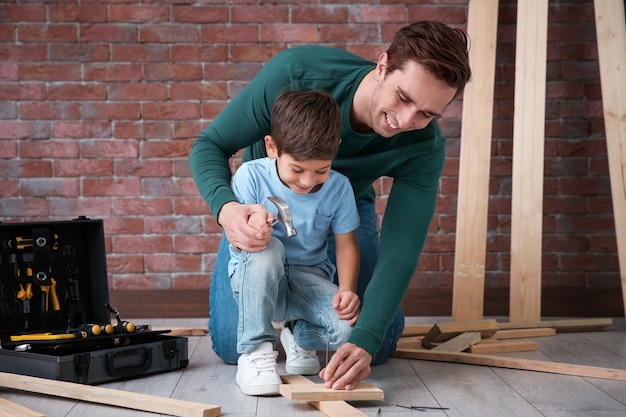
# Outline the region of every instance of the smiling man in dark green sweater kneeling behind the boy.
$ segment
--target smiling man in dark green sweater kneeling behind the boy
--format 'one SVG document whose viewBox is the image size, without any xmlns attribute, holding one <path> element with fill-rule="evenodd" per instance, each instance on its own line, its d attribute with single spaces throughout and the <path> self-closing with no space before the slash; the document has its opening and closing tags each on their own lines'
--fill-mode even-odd
<svg viewBox="0 0 626 417">
<path fill-rule="evenodd" d="M 349 390 L 369 375 L 372 363 L 393 353 L 402 334 L 400 306 L 435 211 L 445 159 L 445 138 L 436 119 L 470 77 L 467 35 L 438 22 L 400 29 L 375 63 L 340 49 L 299 46 L 268 61 L 200 134 L 190 166 L 225 235 L 211 284 L 209 329 L 214 350 L 224 361 L 235 363 L 238 357 L 228 242 L 244 251 L 260 251 L 272 232 L 248 225 L 252 213 L 265 209 L 237 202 L 228 159 L 242 148 L 245 160 L 266 156 L 262 138 L 270 130 L 278 93 L 286 88 L 324 89 L 342 112 L 342 142 L 333 169 L 349 178 L 359 209 L 357 293 L 362 307 L 349 342 L 320 376 L 328 387 Z M 372 183 L 381 176 L 394 182 L 379 239 Z M 329 243 L 332 258 L 332 236 Z"/>
</svg>

